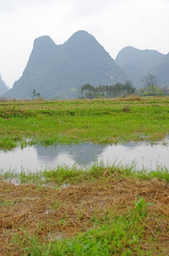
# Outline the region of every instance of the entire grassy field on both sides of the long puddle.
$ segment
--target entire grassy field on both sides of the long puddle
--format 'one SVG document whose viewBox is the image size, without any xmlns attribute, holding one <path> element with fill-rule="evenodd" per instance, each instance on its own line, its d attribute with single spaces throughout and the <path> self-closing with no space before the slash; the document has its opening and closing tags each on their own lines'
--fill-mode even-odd
<svg viewBox="0 0 169 256">
<path fill-rule="evenodd" d="M 169 97 L 0 102 L 0 149 L 163 142 L 168 120 Z M 0 170 L 1 255 L 169 255 L 168 182 L 166 168 Z"/>
</svg>

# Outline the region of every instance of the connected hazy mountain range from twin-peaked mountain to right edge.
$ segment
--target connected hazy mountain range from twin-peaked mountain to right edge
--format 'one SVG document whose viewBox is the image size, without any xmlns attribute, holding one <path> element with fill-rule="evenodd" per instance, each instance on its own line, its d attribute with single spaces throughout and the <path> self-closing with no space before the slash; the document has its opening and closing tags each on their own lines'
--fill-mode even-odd
<svg viewBox="0 0 169 256">
<path fill-rule="evenodd" d="M 73 98 L 80 85 L 114 85 L 131 80 L 143 86 L 148 73 L 157 75 L 158 84 L 169 85 L 169 54 L 157 50 L 139 50 L 127 46 L 111 58 L 97 40 L 86 31 L 77 31 L 62 45 L 49 36 L 36 38 L 23 75 L 5 97 L 31 98 L 33 90 L 45 98 Z"/>
</svg>

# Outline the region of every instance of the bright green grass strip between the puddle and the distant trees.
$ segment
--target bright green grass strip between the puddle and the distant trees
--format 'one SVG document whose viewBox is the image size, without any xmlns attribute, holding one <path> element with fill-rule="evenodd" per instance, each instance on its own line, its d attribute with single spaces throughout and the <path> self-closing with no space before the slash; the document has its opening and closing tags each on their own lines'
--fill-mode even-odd
<svg viewBox="0 0 169 256">
<path fill-rule="evenodd" d="M 168 135 L 169 98 L 0 102 L 0 148 L 158 141 Z"/>
</svg>

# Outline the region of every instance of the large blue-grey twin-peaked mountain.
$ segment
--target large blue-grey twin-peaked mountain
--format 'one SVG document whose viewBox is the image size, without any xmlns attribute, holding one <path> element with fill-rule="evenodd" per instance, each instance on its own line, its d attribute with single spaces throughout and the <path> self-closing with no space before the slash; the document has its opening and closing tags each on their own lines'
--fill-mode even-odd
<svg viewBox="0 0 169 256">
<path fill-rule="evenodd" d="M 126 75 L 109 53 L 86 31 L 77 31 L 62 45 L 49 36 L 36 38 L 23 75 L 6 97 L 77 97 L 80 85 L 113 85 Z"/>
</svg>

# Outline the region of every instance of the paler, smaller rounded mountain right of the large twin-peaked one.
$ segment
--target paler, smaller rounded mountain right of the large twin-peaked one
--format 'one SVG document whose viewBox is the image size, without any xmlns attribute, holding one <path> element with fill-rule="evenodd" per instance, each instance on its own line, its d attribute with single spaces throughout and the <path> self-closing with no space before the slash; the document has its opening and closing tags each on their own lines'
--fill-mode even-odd
<svg viewBox="0 0 169 256">
<path fill-rule="evenodd" d="M 124 70 L 128 79 L 133 82 L 133 85 L 139 87 L 142 85 L 144 76 L 151 73 L 151 70 L 164 57 L 165 55 L 157 50 L 139 50 L 127 46 L 119 51 L 115 61 Z"/>
</svg>

